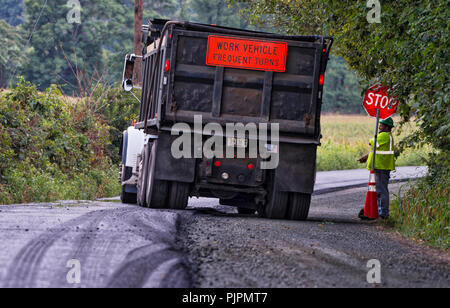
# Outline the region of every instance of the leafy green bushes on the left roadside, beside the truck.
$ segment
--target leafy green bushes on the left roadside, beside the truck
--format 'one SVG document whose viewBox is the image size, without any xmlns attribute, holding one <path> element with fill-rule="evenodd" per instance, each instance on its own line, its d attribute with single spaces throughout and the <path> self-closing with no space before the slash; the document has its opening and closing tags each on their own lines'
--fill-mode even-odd
<svg viewBox="0 0 450 308">
<path fill-rule="evenodd" d="M 116 195 L 109 143 L 87 102 L 21 80 L 0 93 L 0 204 Z"/>
</svg>

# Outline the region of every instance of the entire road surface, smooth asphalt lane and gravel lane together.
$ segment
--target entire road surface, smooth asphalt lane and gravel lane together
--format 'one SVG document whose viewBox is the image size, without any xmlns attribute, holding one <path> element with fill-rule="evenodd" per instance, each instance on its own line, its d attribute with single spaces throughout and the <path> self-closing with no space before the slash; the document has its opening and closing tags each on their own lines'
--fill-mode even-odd
<svg viewBox="0 0 450 308">
<path fill-rule="evenodd" d="M 392 185 L 398 191 L 401 184 Z M 2 287 L 450 287 L 450 255 L 355 218 L 366 189 L 313 198 L 307 222 L 238 215 L 216 200 L 182 212 L 117 202 L 0 206 Z M 80 264 L 71 284 L 70 260 Z"/>
</svg>

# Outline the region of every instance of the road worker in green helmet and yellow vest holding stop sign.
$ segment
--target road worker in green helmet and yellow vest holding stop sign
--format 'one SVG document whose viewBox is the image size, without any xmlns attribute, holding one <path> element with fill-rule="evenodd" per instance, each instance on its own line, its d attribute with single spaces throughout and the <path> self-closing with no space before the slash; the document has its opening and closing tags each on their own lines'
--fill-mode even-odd
<svg viewBox="0 0 450 308">
<path fill-rule="evenodd" d="M 375 156 L 375 178 L 377 183 L 377 200 L 378 212 L 380 218 L 387 219 L 389 217 L 389 179 L 391 171 L 395 170 L 395 154 L 394 154 L 394 138 L 392 137 L 392 129 L 394 121 L 392 118 L 382 120 L 379 127 L 379 135 L 377 139 L 377 151 Z M 374 138 L 375 139 L 375 138 Z M 369 154 L 362 157 L 359 162 L 364 164 L 367 162 L 367 169 L 372 170 L 373 143 L 370 140 L 372 150 Z M 361 219 L 364 217 L 364 210 L 359 215 Z"/>
</svg>

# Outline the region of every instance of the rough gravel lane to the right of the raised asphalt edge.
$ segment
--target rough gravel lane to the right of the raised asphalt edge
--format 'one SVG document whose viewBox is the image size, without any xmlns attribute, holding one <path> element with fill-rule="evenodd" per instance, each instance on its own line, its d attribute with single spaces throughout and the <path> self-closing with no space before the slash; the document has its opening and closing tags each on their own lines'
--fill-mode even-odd
<svg viewBox="0 0 450 308">
<path fill-rule="evenodd" d="M 194 286 L 372 287 L 367 263 L 377 259 L 383 287 L 450 287 L 448 253 L 356 218 L 366 191 L 315 196 L 307 222 L 224 214 L 205 201 L 192 202 L 204 208 L 182 224 Z"/>
</svg>

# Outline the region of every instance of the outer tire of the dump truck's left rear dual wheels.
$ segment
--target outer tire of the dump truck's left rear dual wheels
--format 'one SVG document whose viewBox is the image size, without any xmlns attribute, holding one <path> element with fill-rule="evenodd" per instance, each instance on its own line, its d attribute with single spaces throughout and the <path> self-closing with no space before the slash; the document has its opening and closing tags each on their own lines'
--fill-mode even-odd
<svg viewBox="0 0 450 308">
<path fill-rule="evenodd" d="M 156 147 L 158 140 L 153 142 L 151 151 L 149 151 L 149 159 L 147 168 L 147 193 L 146 204 L 147 207 L 152 209 L 165 209 L 167 208 L 169 183 L 167 181 L 160 181 L 155 179 L 155 164 L 156 164 Z"/>
</svg>

